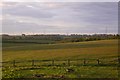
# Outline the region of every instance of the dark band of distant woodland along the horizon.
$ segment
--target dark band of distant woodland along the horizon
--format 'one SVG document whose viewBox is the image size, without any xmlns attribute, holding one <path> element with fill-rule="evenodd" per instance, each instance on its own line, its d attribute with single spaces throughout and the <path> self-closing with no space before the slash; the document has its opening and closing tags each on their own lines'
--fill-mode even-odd
<svg viewBox="0 0 120 80">
<path fill-rule="evenodd" d="M 53 44 L 53 43 L 120 39 L 119 34 L 93 34 L 93 35 L 80 35 L 80 34 L 8 35 L 8 34 L 2 34 L 1 37 L 2 37 L 2 43 L 38 43 L 38 44 Z"/>
</svg>

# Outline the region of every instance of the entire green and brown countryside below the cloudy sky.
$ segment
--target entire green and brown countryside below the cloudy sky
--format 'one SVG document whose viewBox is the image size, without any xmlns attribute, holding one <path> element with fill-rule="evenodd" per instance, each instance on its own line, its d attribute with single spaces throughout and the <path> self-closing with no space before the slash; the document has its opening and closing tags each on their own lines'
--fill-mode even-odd
<svg viewBox="0 0 120 80">
<path fill-rule="evenodd" d="M 4 34 L 3 78 L 118 78 L 118 38 Z"/>
</svg>

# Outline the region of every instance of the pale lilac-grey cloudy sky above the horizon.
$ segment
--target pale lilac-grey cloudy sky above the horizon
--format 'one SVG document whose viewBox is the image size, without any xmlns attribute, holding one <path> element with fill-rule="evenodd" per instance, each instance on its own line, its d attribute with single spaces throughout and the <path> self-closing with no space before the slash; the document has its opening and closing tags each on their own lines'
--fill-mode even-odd
<svg viewBox="0 0 120 80">
<path fill-rule="evenodd" d="M 117 2 L 4 2 L 0 7 L 6 34 L 118 32 Z"/>
</svg>

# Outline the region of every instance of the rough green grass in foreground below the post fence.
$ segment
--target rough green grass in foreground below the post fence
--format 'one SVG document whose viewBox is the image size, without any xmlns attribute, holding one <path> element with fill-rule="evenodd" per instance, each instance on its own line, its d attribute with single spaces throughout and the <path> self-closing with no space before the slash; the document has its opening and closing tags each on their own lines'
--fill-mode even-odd
<svg viewBox="0 0 120 80">
<path fill-rule="evenodd" d="M 3 78 L 118 78 L 118 71 L 117 67 L 98 66 L 8 68 L 3 69 Z"/>
</svg>

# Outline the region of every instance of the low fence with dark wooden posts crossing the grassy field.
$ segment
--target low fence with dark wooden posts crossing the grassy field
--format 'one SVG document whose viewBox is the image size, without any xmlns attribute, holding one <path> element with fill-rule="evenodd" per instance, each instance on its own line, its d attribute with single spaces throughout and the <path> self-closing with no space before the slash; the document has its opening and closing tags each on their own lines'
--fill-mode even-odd
<svg viewBox="0 0 120 80">
<path fill-rule="evenodd" d="M 118 66 L 119 59 L 68 59 L 68 60 L 13 60 L 1 62 L 1 67 L 28 66 Z"/>
</svg>

